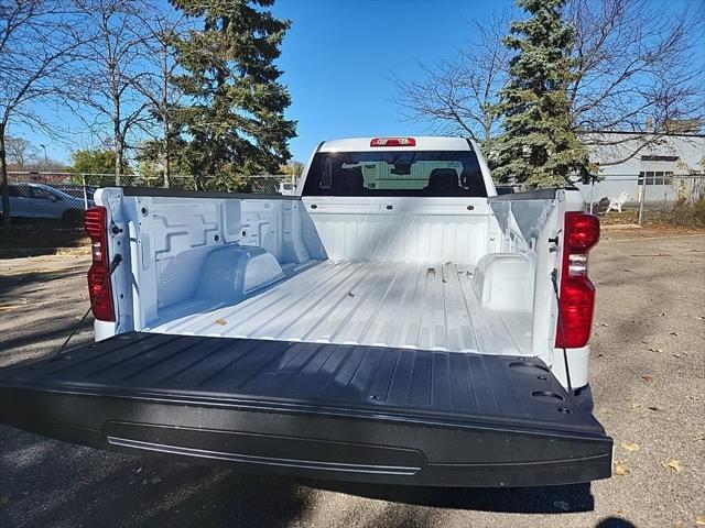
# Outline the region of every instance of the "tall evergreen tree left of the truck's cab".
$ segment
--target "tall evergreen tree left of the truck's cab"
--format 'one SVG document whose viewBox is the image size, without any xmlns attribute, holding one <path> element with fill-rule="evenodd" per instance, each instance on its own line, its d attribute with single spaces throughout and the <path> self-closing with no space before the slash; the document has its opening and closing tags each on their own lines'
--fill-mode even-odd
<svg viewBox="0 0 705 528">
<path fill-rule="evenodd" d="M 216 176 L 221 189 L 239 190 L 241 176 L 276 173 L 291 154 L 295 121 L 284 118 L 289 90 L 274 61 L 289 21 L 267 8 L 274 0 L 171 0 L 203 20 L 175 43 L 184 74 L 174 82 L 187 106 L 176 109 L 196 176 Z"/>
</svg>

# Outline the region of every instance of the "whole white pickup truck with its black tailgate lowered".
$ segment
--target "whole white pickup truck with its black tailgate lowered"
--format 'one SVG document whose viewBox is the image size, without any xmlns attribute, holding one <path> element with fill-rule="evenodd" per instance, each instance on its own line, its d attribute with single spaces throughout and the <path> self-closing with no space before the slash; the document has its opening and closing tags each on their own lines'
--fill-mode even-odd
<svg viewBox="0 0 705 528">
<path fill-rule="evenodd" d="M 293 196 L 96 204 L 97 342 L 1 371 L 1 421 L 317 479 L 610 475 L 577 190 L 497 196 L 473 141 L 368 138 L 321 143 Z"/>
</svg>

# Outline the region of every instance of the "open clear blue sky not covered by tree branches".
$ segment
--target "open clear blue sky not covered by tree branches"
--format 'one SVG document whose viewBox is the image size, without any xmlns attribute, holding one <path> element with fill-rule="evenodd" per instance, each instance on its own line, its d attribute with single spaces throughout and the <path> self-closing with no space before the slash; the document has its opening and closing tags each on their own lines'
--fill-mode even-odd
<svg viewBox="0 0 705 528">
<path fill-rule="evenodd" d="M 699 1 L 668 6 L 680 11 Z M 279 65 L 292 96 L 288 117 L 299 121 L 291 142 L 294 160 L 306 161 L 322 140 L 430 132 L 403 120 L 391 100 L 390 74 L 422 78 L 420 63 L 453 58 L 474 36 L 467 20 L 511 6 L 511 0 L 278 0 L 275 15 L 292 21 Z M 55 117 L 75 122 L 69 114 Z M 69 162 L 70 148 L 90 144 L 85 135 L 58 141 L 21 128 L 10 132 L 46 144 L 48 156 L 63 162 Z"/>
</svg>

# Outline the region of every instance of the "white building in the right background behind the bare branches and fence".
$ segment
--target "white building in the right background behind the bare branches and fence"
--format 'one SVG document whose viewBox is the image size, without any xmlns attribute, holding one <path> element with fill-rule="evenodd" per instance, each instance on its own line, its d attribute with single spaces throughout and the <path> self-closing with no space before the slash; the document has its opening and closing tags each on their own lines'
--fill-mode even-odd
<svg viewBox="0 0 705 528">
<path fill-rule="evenodd" d="M 653 134 L 634 132 L 594 132 L 589 134 L 590 162 L 599 168 L 599 182 L 577 185 L 586 201 L 618 197 L 622 191 L 629 201 L 669 204 L 679 196 L 703 193 L 705 177 L 705 134 Z M 686 177 L 687 176 L 687 177 Z"/>
</svg>

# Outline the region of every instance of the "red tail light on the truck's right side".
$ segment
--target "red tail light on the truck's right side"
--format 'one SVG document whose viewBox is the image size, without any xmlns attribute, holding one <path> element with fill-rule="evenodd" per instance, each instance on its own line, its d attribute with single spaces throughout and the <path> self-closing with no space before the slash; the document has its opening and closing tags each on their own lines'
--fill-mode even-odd
<svg viewBox="0 0 705 528">
<path fill-rule="evenodd" d="M 599 240 L 599 219 L 586 212 L 565 213 L 563 271 L 555 345 L 585 346 L 593 328 L 595 286 L 587 278 L 587 253 Z M 562 327 L 562 328 L 561 328 Z"/>
</svg>

